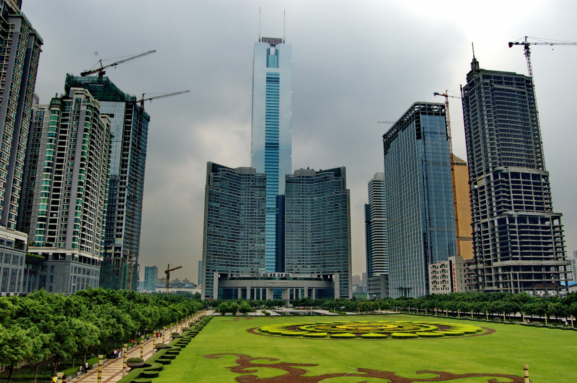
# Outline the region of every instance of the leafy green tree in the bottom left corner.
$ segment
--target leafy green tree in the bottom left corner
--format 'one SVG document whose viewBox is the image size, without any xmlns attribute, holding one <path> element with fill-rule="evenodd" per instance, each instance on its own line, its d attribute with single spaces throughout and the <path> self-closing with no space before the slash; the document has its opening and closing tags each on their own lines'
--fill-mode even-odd
<svg viewBox="0 0 577 383">
<path fill-rule="evenodd" d="M 0 326 L 0 365 L 7 367 L 10 383 L 14 366 L 32 354 L 32 339 L 19 326 Z"/>
</svg>

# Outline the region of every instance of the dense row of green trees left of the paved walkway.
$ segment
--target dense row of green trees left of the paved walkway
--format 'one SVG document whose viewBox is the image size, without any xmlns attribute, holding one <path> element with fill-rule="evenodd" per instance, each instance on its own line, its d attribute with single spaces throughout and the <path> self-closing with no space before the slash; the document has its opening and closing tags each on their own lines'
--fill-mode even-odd
<svg viewBox="0 0 577 383">
<path fill-rule="evenodd" d="M 0 365 L 8 372 L 27 360 L 38 367 L 53 358 L 54 373 L 89 348 L 108 350 L 109 344 L 136 339 L 205 308 L 198 299 L 180 295 L 134 291 L 79 291 L 73 295 L 48 294 L 0 298 Z M 84 363 L 84 362 L 83 362 Z"/>
</svg>

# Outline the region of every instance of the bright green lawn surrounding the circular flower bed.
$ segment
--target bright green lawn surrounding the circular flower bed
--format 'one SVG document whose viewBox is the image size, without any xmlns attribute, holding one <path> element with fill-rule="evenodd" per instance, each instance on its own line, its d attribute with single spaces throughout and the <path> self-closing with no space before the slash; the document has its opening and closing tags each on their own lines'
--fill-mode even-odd
<svg viewBox="0 0 577 383">
<path fill-rule="evenodd" d="M 164 370 L 153 383 L 188 382 L 249 382 L 256 375 L 269 378 L 286 374 L 286 371 L 257 367 L 257 372 L 239 374 L 226 367 L 235 366 L 237 359 L 225 355 L 220 359 L 204 358 L 218 353 L 245 354 L 252 357 L 278 358 L 278 362 L 256 361 L 253 363 L 308 363 L 318 366 L 298 367 L 308 372 L 305 376 L 328 373 L 354 373 L 355 369 L 393 371 L 402 377 L 413 377 L 416 381 L 434 375 L 415 375 L 418 370 L 447 371 L 453 374 L 488 373 L 523 376 L 523 364 L 529 364 L 533 383 L 575 383 L 577 379 L 577 332 L 559 329 L 533 328 L 519 325 L 504 325 L 467 320 L 391 315 L 354 317 L 253 317 L 252 320 L 233 317 L 215 317 L 192 339 L 180 355 Z M 440 339 L 415 340 L 334 340 L 306 339 L 303 337 L 271 337 L 254 335 L 246 330 L 270 324 L 295 323 L 299 321 L 331 320 L 408 320 L 444 321 L 475 324 L 496 330 L 490 335 L 473 337 L 444 337 Z M 357 373 L 358 374 L 358 373 Z M 457 383 L 486 382 L 491 376 L 444 380 Z M 235 380 L 239 378 L 239 380 Z M 261 383 L 282 382 L 255 380 Z M 313 380 L 314 381 L 314 380 Z M 323 383 L 385 383 L 382 378 L 335 377 Z M 496 378 L 496 382 L 511 382 L 507 378 Z M 522 382 L 522 380 L 520 380 Z M 288 382 L 288 381 L 287 381 Z M 290 383 L 305 383 L 302 378 L 291 379 Z M 403 380 L 402 383 L 413 382 Z"/>
</svg>

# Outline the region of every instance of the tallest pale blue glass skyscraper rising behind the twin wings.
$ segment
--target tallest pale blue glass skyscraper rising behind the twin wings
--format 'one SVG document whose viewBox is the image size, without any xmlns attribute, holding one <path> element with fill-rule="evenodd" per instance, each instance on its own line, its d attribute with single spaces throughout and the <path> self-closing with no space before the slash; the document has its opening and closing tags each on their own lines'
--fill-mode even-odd
<svg viewBox="0 0 577 383">
<path fill-rule="evenodd" d="M 284 175 L 292 171 L 293 47 L 284 39 L 261 37 L 254 43 L 252 144 L 250 163 L 267 174 L 266 271 L 279 271 L 282 251 Z M 277 250 L 279 249 L 279 250 Z"/>
</svg>

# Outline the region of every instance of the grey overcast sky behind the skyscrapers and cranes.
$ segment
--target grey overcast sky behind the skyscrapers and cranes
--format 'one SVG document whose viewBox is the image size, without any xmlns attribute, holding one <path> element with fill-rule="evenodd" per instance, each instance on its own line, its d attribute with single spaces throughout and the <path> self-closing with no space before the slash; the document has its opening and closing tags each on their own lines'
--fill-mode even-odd
<svg viewBox="0 0 577 383">
<path fill-rule="evenodd" d="M 353 273 L 365 271 L 367 182 L 383 171 L 381 137 L 415 101 L 458 94 L 471 42 L 482 68 L 527 74 L 529 35 L 577 41 L 572 1 L 60 1 L 24 0 L 44 39 L 36 93 L 47 103 L 66 73 L 98 59 L 156 53 L 109 69 L 126 93 L 190 93 L 146 104 L 151 115 L 140 246 L 144 266 L 182 265 L 197 278 L 202 258 L 206 163 L 250 166 L 253 44 L 293 44 L 293 170 L 346 166 L 351 190 Z M 568 252 L 577 249 L 575 104 L 577 46 L 532 49 L 553 207 Z M 451 99 L 454 152 L 466 158 L 460 100 Z M 161 272 L 162 273 L 162 272 Z M 160 276 L 160 275 L 159 275 Z"/>
</svg>

